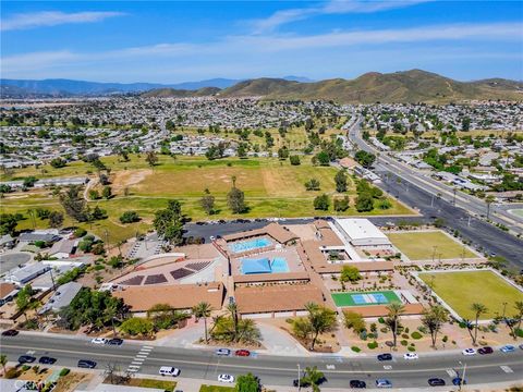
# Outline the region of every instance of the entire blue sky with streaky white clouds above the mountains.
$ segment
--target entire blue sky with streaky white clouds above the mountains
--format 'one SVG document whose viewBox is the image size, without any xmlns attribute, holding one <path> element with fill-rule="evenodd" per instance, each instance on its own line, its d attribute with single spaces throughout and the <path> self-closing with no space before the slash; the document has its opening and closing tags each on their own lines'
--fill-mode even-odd
<svg viewBox="0 0 523 392">
<path fill-rule="evenodd" d="M 523 79 L 523 1 L 1 1 L 1 77 Z"/>
</svg>

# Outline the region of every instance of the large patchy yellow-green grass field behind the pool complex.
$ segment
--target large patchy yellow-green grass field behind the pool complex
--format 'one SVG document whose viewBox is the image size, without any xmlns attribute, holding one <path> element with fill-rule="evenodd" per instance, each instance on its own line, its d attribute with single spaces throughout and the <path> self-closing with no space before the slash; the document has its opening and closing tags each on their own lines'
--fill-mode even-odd
<svg viewBox="0 0 523 392">
<path fill-rule="evenodd" d="M 293 167 L 289 161 L 279 161 L 272 158 L 253 159 L 222 159 L 209 161 L 206 158 L 159 156 L 160 161 L 154 169 L 147 166 L 144 157 L 131 156 L 129 162 L 122 162 L 117 157 L 102 158 L 107 167 L 111 168 L 111 187 L 114 197 L 105 200 L 89 201 L 108 211 L 109 218 L 93 224 L 93 231 L 105 237 L 109 233 L 109 241 L 115 243 L 127 238 L 136 232 L 145 232 L 156 210 L 165 208 L 169 199 L 179 199 L 183 211 L 193 220 L 230 219 L 238 218 L 227 207 L 227 193 L 232 186 L 232 176 L 236 177 L 236 186 L 245 192 L 245 201 L 248 210 L 241 217 L 312 217 L 331 215 L 330 211 L 317 211 L 313 207 L 314 198 L 327 193 L 335 195 L 335 174 L 331 167 L 314 167 L 309 157 L 302 158 L 302 164 Z M 9 179 L 2 181 L 35 175 L 37 177 L 56 177 L 72 175 L 93 175 L 94 169 L 84 162 L 74 162 L 62 169 L 46 166 L 40 169 L 25 168 L 15 171 Z M 309 179 L 317 179 L 321 189 L 305 191 L 304 183 Z M 351 179 L 350 189 L 346 193 L 355 198 L 354 184 Z M 199 199 L 204 189 L 208 188 L 216 198 L 217 213 L 205 215 Z M 126 189 L 127 196 L 124 195 Z M 391 199 L 392 208 L 363 215 L 411 215 L 404 205 Z M 358 213 L 352 207 L 344 215 Z M 61 210 L 58 198 L 49 191 L 33 191 L 31 193 L 8 194 L 1 200 L 1 212 L 22 212 L 28 209 L 48 208 Z M 332 207 L 331 207 L 332 208 Z M 119 217 L 126 210 L 135 210 L 143 218 L 142 222 L 121 224 Z M 66 221 L 65 224 L 73 222 Z M 46 222 L 36 221 L 36 226 L 45 226 Z M 20 229 L 32 229 L 33 222 L 28 219 L 20 222 Z M 90 229 L 87 226 L 86 229 Z"/>
</svg>

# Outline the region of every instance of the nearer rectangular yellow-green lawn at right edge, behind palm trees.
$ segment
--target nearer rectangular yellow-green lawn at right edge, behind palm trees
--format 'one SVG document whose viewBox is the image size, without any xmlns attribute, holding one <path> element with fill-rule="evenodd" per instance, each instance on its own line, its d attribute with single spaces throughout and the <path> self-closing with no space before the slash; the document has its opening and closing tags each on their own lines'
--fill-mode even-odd
<svg viewBox="0 0 523 392">
<path fill-rule="evenodd" d="M 434 277 L 434 278 L 433 278 Z M 513 304 L 523 301 L 523 293 L 507 283 L 491 271 L 459 271 L 459 272 L 423 272 L 419 278 L 433 286 L 452 309 L 461 317 L 472 319 L 473 303 L 481 303 L 488 308 L 488 313 L 481 319 L 491 319 L 503 311 L 507 303 L 507 314 L 513 313 Z"/>
</svg>

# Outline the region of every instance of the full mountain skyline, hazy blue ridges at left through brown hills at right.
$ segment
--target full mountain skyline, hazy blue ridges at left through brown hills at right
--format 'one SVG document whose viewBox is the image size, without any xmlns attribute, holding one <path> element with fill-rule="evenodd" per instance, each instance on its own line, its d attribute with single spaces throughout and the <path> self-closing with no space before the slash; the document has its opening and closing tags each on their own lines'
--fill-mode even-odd
<svg viewBox="0 0 523 392">
<path fill-rule="evenodd" d="M 2 98 L 38 96 L 99 96 L 142 94 L 146 97 L 264 97 L 266 99 L 324 99 L 340 102 L 448 102 L 465 99 L 523 100 L 523 82 L 489 78 L 458 82 L 435 73 L 411 70 L 369 72 L 354 79 L 314 82 L 305 77 L 215 78 L 173 85 L 96 83 L 69 79 L 0 79 Z"/>
</svg>

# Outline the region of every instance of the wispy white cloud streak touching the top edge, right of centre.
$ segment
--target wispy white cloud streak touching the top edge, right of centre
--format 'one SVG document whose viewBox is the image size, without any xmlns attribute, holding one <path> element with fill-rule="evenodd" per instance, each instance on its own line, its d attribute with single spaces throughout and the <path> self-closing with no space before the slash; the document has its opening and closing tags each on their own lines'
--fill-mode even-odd
<svg viewBox="0 0 523 392">
<path fill-rule="evenodd" d="M 430 0 L 331 0 L 321 5 L 281 10 L 266 19 L 251 21 L 255 34 L 272 32 L 284 24 L 325 14 L 372 13 L 415 5 Z"/>
</svg>

